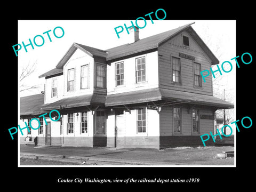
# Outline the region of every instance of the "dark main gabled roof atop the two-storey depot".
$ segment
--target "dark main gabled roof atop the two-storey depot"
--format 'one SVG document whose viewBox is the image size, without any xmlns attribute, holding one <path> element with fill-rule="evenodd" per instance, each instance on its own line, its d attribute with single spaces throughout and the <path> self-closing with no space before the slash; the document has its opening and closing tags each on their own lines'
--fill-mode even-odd
<svg viewBox="0 0 256 192">
<path fill-rule="evenodd" d="M 129 57 L 133 54 L 138 54 L 141 52 L 150 52 L 156 50 L 159 46 L 163 43 L 169 41 L 171 38 L 176 36 L 177 34 L 181 33 L 183 30 L 187 30 L 188 33 L 195 39 L 199 46 L 205 51 L 208 57 L 212 60 L 212 65 L 216 65 L 219 63 L 219 60 L 215 57 L 212 51 L 207 47 L 207 45 L 203 42 L 203 40 L 197 35 L 195 30 L 191 27 L 193 23 L 188 23 L 187 25 L 165 31 L 163 33 L 153 35 L 147 38 L 139 39 L 137 42 L 134 43 L 127 43 L 124 45 L 120 45 L 117 47 L 113 47 L 107 50 L 100 50 L 94 47 L 73 43 L 67 53 L 63 56 L 63 58 L 59 61 L 56 68 L 62 70 L 63 66 L 69 60 L 69 58 L 75 53 L 77 49 L 82 50 L 83 52 L 89 54 L 91 57 L 100 57 L 104 60 L 106 59 L 107 62 L 111 62 L 114 60 L 118 60 L 124 57 Z M 39 77 L 46 77 L 50 76 L 54 73 L 54 70 L 48 71 L 45 74 Z"/>
</svg>

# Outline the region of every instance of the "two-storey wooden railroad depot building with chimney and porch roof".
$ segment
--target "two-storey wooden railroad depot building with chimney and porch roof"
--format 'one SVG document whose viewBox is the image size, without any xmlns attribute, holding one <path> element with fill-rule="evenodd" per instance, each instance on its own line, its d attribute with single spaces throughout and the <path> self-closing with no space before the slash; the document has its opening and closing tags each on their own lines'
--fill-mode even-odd
<svg viewBox="0 0 256 192">
<path fill-rule="evenodd" d="M 20 98 L 22 121 L 41 122 L 19 132 L 20 144 L 31 137 L 38 145 L 202 146 L 200 135 L 214 132 L 215 110 L 234 105 L 213 96 L 211 76 L 202 82 L 200 71 L 219 61 L 191 24 L 143 39 L 137 28 L 133 42 L 108 50 L 73 43 L 39 76 L 44 94 Z M 47 116 L 53 109 L 59 121 Z M 45 113 L 47 125 L 39 117 Z"/>
</svg>

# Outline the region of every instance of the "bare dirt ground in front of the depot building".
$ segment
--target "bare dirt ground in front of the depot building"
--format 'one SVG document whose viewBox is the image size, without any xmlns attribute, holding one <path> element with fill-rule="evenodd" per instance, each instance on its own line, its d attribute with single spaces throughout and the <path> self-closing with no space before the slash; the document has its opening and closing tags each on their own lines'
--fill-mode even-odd
<svg viewBox="0 0 256 192">
<path fill-rule="evenodd" d="M 176 147 L 162 150 L 143 149 L 143 148 L 107 148 L 107 147 L 34 147 L 20 146 L 22 153 L 63 155 L 63 156 L 80 156 L 80 157 L 95 157 L 95 158 L 111 158 L 124 159 L 133 161 L 148 161 L 148 162 L 165 162 L 173 163 L 174 165 L 234 165 L 235 158 L 217 158 L 217 154 L 222 151 L 234 151 L 234 147 Z M 67 162 L 51 162 L 42 161 L 42 159 L 21 159 L 21 165 L 59 165 L 67 164 Z M 73 165 L 74 162 L 71 163 Z M 70 164 L 67 164 L 70 165 Z M 77 165 L 77 164 L 75 164 Z M 81 165 L 81 164 L 79 164 Z"/>
</svg>

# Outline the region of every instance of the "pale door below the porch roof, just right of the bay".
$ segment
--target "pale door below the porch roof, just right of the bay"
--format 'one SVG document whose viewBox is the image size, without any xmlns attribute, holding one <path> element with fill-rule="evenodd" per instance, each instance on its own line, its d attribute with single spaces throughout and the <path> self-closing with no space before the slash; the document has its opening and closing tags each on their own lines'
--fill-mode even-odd
<svg viewBox="0 0 256 192">
<path fill-rule="evenodd" d="M 124 116 L 116 116 L 116 147 L 124 147 L 125 132 L 124 132 Z"/>
</svg>

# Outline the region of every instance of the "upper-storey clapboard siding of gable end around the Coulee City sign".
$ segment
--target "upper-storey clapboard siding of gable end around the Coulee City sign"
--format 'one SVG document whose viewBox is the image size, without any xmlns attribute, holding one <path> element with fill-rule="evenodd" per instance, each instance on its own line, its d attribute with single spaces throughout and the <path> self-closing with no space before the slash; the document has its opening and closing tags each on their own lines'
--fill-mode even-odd
<svg viewBox="0 0 256 192">
<path fill-rule="evenodd" d="M 159 87 L 179 91 L 187 91 L 201 94 L 213 95 L 211 75 L 206 77 L 202 87 L 194 86 L 194 62 L 201 64 L 201 70 L 210 69 L 211 60 L 207 57 L 201 47 L 189 37 L 189 47 L 182 46 L 182 35 L 172 38 L 158 48 L 158 65 L 159 65 Z M 179 53 L 184 53 L 195 57 L 195 61 L 179 57 Z M 181 84 L 172 83 L 171 57 L 180 58 L 181 63 Z"/>
</svg>

